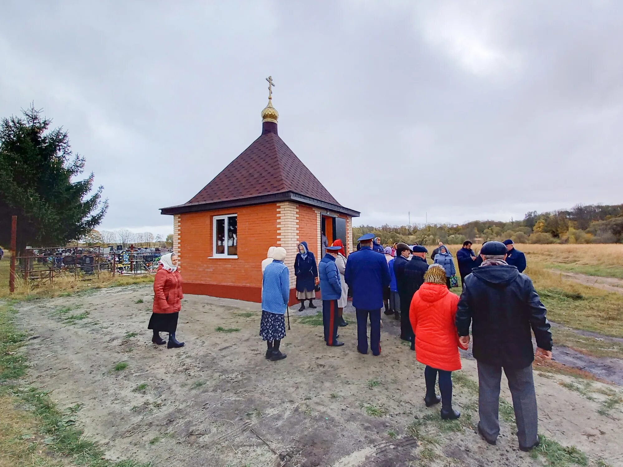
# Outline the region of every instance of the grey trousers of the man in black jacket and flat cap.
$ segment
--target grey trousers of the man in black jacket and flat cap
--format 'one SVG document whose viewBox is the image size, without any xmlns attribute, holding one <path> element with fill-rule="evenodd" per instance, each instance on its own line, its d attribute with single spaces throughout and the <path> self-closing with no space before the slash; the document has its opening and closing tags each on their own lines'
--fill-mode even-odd
<svg viewBox="0 0 623 467">
<path fill-rule="evenodd" d="M 505 368 L 504 374 L 513 397 L 519 445 L 528 448 L 538 441 L 538 415 L 532 366 L 521 369 Z M 483 435 L 490 441 L 495 441 L 500 434 L 498 407 L 501 380 L 502 367 L 478 362 L 478 415 L 480 415 L 478 425 Z"/>
</svg>

